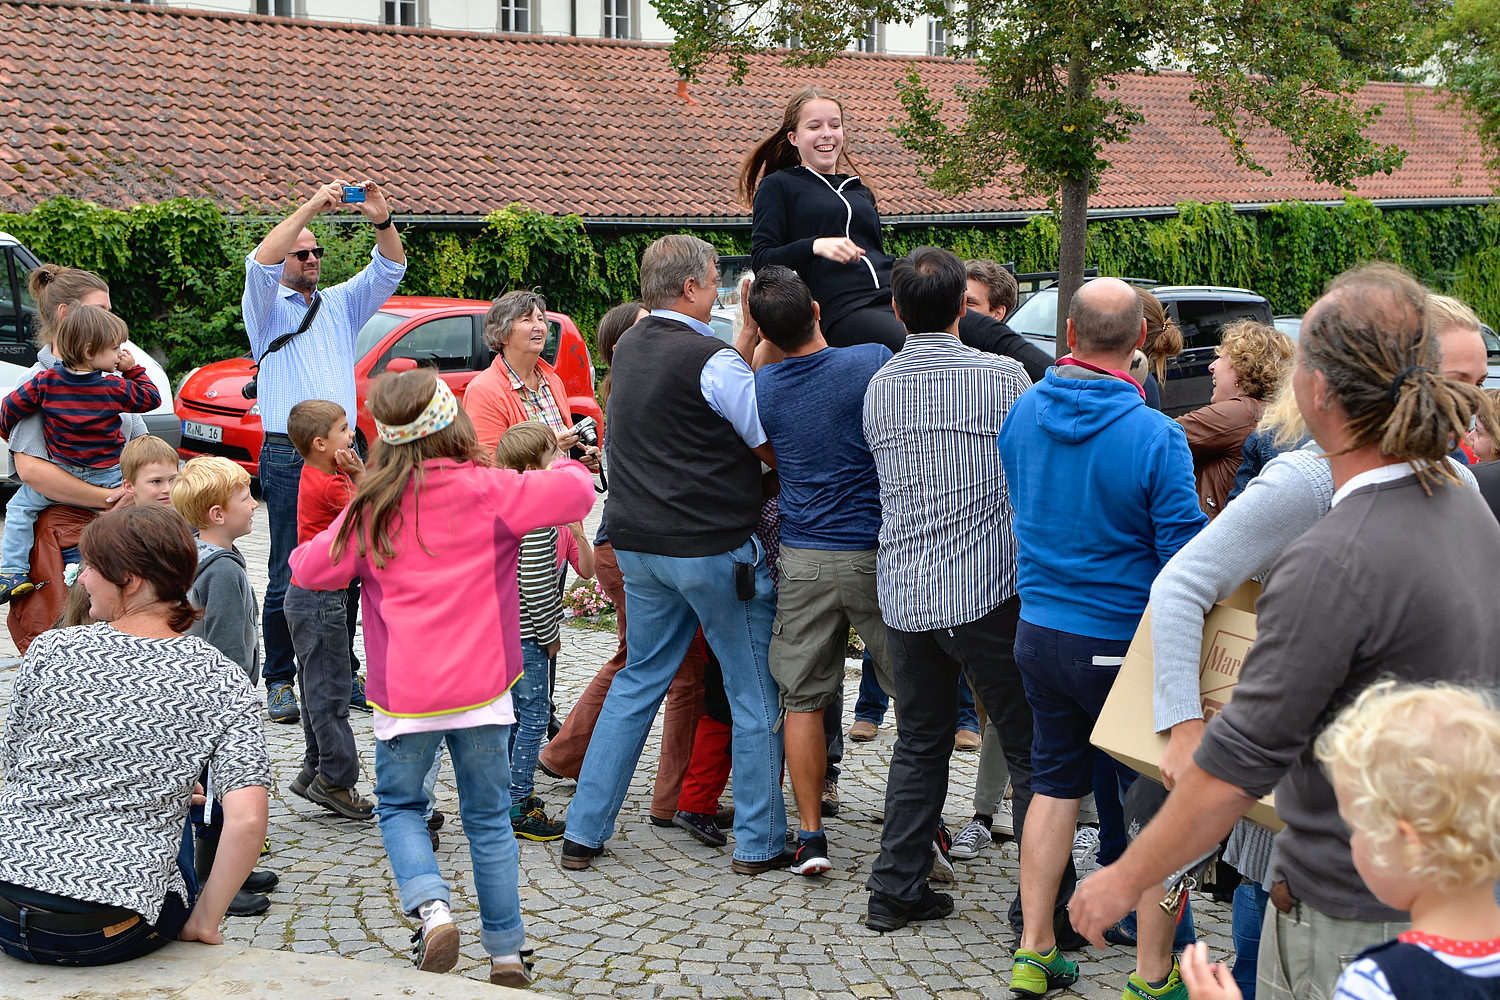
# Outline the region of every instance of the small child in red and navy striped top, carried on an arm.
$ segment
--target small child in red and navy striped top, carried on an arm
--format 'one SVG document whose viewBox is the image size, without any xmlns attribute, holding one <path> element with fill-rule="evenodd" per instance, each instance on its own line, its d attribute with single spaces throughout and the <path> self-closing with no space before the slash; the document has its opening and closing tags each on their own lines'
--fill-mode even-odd
<svg viewBox="0 0 1500 1000">
<path fill-rule="evenodd" d="M 57 364 L 0 400 L 0 436 L 26 417 L 42 414 L 42 433 L 54 465 L 92 486 L 120 486 L 124 433 L 120 414 L 156 409 L 162 394 L 124 346 L 129 330 L 108 309 L 74 306 L 57 321 Z M 120 378 L 106 378 L 106 372 Z M 0 604 L 36 589 L 30 579 L 36 516 L 52 505 L 28 486 L 6 504 L 0 543 Z"/>
</svg>

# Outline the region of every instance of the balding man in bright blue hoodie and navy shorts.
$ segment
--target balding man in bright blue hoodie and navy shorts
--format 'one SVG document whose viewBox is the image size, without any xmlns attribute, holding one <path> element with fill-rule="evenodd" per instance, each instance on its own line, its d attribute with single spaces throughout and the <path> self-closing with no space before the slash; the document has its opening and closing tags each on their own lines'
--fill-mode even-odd
<svg viewBox="0 0 1500 1000">
<path fill-rule="evenodd" d="M 1068 310 L 1072 354 L 1016 402 L 999 433 L 1016 508 L 1016 663 L 1035 720 L 1035 798 L 1020 868 L 1026 921 L 1011 969 L 1011 990 L 1022 996 L 1077 979 L 1047 918 L 1078 801 L 1092 790 L 1089 735 L 1152 579 L 1206 523 L 1182 427 L 1146 406 L 1126 375 L 1144 337 L 1130 285 L 1088 282 Z M 1173 919 L 1155 906 L 1160 886 L 1148 897 L 1137 907 L 1137 970 L 1126 996 L 1186 1000 L 1172 958 Z"/>
</svg>

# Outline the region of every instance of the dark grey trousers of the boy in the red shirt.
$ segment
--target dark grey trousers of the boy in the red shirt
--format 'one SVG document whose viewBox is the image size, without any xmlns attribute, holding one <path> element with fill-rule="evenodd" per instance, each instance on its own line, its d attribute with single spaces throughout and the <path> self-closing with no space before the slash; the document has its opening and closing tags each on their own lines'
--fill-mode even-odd
<svg viewBox="0 0 1500 1000">
<path fill-rule="evenodd" d="M 302 766 L 352 789 L 360 777 L 350 727 L 348 591 L 286 589 L 284 613 L 302 661 Z"/>
</svg>

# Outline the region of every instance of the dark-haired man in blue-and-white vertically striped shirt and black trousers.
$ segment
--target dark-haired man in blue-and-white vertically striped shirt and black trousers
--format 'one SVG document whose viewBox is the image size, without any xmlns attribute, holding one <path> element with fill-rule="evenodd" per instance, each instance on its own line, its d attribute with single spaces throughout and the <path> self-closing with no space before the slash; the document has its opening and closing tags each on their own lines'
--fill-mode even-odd
<svg viewBox="0 0 1500 1000">
<path fill-rule="evenodd" d="M 880 477 L 876 589 L 896 679 L 897 741 L 866 924 L 878 931 L 946 916 L 927 886 L 948 793 L 960 670 L 994 718 L 1016 783 L 1016 829 L 1030 801 L 1030 712 L 1011 645 L 1016 537 L 1000 423 L 1030 379 L 1011 358 L 958 340 L 966 274 L 948 250 L 896 262 L 891 288 L 909 336 L 864 397 Z"/>
</svg>

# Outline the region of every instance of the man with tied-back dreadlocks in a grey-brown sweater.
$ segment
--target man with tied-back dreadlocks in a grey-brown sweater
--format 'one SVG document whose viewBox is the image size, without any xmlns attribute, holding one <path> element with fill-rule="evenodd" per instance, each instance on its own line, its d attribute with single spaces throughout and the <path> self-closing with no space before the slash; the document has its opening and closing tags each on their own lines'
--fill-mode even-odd
<svg viewBox="0 0 1500 1000">
<path fill-rule="evenodd" d="M 1276 790 L 1272 895 L 1257 996 L 1334 996 L 1341 957 L 1392 937 L 1406 915 L 1354 871 L 1348 831 L 1312 757 L 1326 718 L 1377 676 L 1500 682 L 1500 618 L 1443 580 L 1486 576 L 1500 525 L 1446 454 L 1478 390 L 1443 378 L 1426 292 L 1400 268 L 1336 279 L 1308 312 L 1293 375 L 1328 456 L 1334 507 L 1274 564 L 1234 700 L 1119 862 L 1072 901 L 1095 943 L 1152 882 L 1206 853 Z"/>
</svg>

